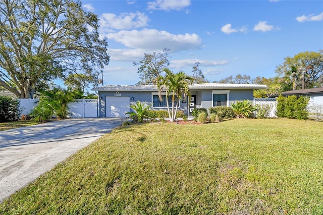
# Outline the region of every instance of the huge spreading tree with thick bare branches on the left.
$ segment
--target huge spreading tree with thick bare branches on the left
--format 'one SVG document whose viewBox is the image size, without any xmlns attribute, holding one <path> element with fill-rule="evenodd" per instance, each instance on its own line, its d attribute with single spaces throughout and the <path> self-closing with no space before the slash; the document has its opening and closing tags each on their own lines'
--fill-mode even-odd
<svg viewBox="0 0 323 215">
<path fill-rule="evenodd" d="M 32 98 L 40 83 L 109 64 L 98 19 L 73 0 L 0 0 L 0 86 Z"/>
</svg>

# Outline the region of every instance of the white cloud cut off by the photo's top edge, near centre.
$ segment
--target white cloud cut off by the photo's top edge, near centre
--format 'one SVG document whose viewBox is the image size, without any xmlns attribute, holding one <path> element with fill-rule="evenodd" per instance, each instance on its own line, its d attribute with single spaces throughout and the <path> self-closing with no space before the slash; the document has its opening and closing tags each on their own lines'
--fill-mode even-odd
<svg viewBox="0 0 323 215">
<path fill-rule="evenodd" d="M 190 0 L 156 0 L 154 2 L 148 2 L 149 10 L 161 10 L 161 11 L 171 11 L 171 10 L 182 10 L 190 6 Z"/>
</svg>

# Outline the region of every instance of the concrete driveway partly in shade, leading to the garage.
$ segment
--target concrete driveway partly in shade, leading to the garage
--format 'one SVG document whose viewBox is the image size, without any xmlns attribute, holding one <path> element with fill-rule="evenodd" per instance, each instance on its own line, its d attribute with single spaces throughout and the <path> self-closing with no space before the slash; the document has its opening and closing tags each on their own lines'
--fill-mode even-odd
<svg viewBox="0 0 323 215">
<path fill-rule="evenodd" d="M 121 125 L 78 118 L 0 132 L 0 203 L 72 154 Z"/>
</svg>

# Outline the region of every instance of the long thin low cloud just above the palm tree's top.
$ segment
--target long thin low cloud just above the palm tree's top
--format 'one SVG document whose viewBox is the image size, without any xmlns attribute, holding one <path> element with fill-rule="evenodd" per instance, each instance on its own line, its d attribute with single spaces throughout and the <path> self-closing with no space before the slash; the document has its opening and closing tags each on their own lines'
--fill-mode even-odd
<svg viewBox="0 0 323 215">
<path fill-rule="evenodd" d="M 229 61 L 207 61 L 200 59 L 184 59 L 184 60 L 174 60 L 171 61 L 171 65 L 174 68 L 184 68 L 184 67 L 192 67 L 195 65 L 195 62 L 199 62 L 201 67 L 214 67 L 214 66 L 222 66 L 229 63 Z"/>
</svg>

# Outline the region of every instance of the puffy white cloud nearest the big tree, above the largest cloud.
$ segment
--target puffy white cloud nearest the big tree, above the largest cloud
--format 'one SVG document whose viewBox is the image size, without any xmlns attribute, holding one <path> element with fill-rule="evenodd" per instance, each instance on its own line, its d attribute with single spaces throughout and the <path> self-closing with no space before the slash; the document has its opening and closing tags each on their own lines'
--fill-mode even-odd
<svg viewBox="0 0 323 215">
<path fill-rule="evenodd" d="M 145 27 L 148 21 L 147 15 L 140 12 L 122 13 L 120 16 L 106 13 L 100 16 L 99 25 L 102 30 L 103 28 L 124 30 Z"/>
</svg>

